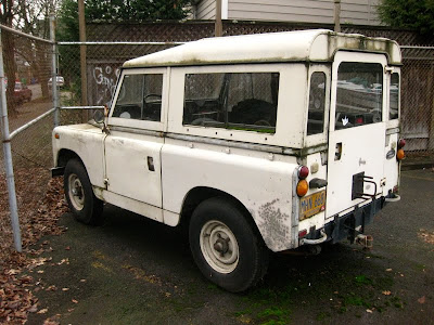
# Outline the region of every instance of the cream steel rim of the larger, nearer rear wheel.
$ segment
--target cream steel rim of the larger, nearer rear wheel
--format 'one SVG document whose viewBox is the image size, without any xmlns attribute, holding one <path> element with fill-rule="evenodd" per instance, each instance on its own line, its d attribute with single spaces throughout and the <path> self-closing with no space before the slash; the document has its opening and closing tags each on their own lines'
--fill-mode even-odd
<svg viewBox="0 0 434 325">
<path fill-rule="evenodd" d="M 200 245 L 206 262 L 219 273 L 230 273 L 239 262 L 239 246 L 232 231 L 222 222 L 210 220 L 201 230 Z"/>
</svg>

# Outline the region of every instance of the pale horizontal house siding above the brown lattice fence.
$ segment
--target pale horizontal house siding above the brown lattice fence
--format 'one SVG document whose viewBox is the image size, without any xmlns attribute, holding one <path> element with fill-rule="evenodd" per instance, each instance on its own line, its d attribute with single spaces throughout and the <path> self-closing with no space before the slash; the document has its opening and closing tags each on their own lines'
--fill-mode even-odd
<svg viewBox="0 0 434 325">
<path fill-rule="evenodd" d="M 203 2 L 208 2 L 203 1 Z M 379 0 L 342 0 L 341 23 L 379 25 Z M 333 0 L 229 0 L 228 18 L 332 24 Z"/>
</svg>

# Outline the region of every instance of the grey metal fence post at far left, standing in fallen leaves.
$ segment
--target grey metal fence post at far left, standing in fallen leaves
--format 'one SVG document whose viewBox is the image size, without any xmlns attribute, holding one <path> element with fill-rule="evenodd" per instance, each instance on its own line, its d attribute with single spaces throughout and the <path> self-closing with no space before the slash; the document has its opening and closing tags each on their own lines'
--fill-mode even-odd
<svg viewBox="0 0 434 325">
<path fill-rule="evenodd" d="M 13 80 L 9 80 L 13 82 Z M 18 220 L 18 207 L 16 204 L 15 181 L 13 174 L 12 152 L 11 152 L 11 136 L 9 133 L 9 119 L 8 119 L 8 105 L 7 93 L 4 88 L 4 65 L 3 65 L 3 44 L 1 42 L 0 29 L 0 105 L 1 105 L 1 132 L 3 136 L 3 155 L 4 155 L 4 169 L 7 173 L 8 194 L 9 194 L 9 209 L 11 212 L 11 223 L 14 237 L 15 249 L 22 252 L 21 230 Z"/>
</svg>

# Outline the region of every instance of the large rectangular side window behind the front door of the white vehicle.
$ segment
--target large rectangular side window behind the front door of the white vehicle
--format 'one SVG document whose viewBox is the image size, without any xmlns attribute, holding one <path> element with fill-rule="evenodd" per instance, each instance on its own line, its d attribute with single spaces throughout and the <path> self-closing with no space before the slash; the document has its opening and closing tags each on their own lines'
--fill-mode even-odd
<svg viewBox="0 0 434 325">
<path fill-rule="evenodd" d="M 276 132 L 279 73 L 186 75 L 183 125 Z"/>
</svg>

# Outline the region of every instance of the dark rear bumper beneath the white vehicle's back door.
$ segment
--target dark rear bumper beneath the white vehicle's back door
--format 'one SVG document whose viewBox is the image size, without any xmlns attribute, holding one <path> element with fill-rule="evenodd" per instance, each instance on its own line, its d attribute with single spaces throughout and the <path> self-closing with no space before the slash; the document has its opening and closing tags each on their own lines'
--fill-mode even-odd
<svg viewBox="0 0 434 325">
<path fill-rule="evenodd" d="M 383 196 L 372 200 L 366 206 L 356 206 L 353 211 L 341 217 L 336 216 L 333 221 L 326 223 L 324 227 L 311 231 L 304 239 L 318 239 L 326 233 L 326 242 L 330 242 L 331 244 L 344 239 L 349 239 L 354 243 L 357 235 L 365 232 L 366 225 L 372 223 L 373 217 L 384 208 L 385 205 L 386 197 Z"/>
</svg>

